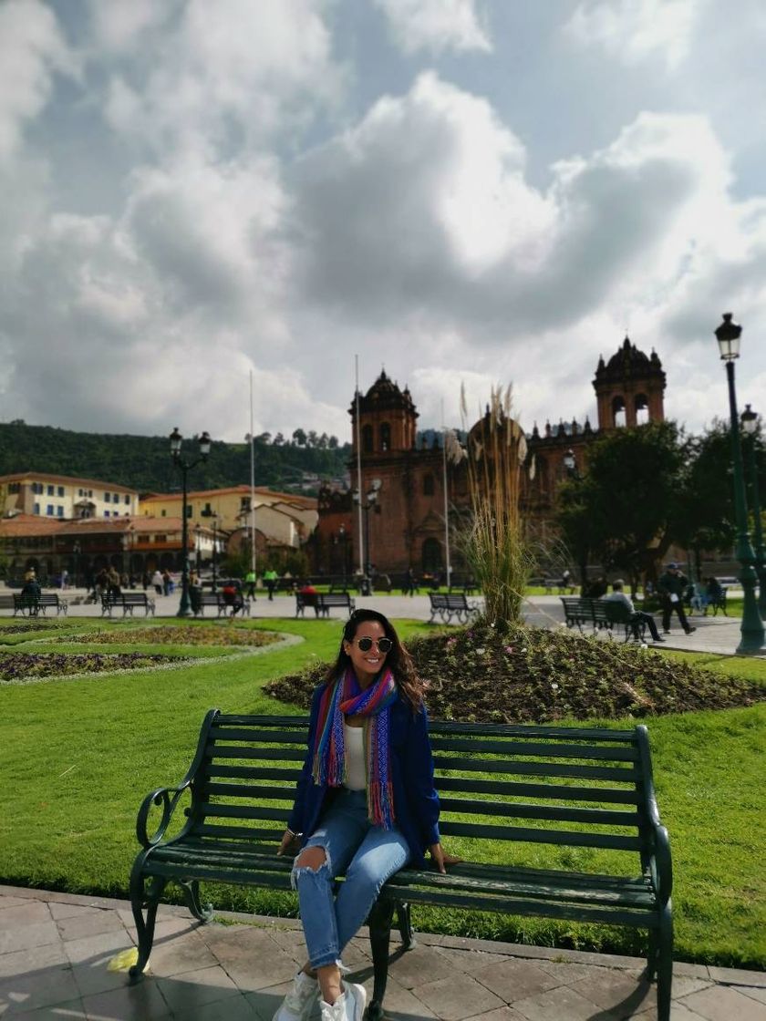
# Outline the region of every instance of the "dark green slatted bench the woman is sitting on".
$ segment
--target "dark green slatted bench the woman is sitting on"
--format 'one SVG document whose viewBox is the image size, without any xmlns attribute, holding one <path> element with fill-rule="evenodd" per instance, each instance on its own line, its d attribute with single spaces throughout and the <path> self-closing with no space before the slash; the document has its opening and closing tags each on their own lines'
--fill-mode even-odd
<svg viewBox="0 0 766 1021">
<path fill-rule="evenodd" d="M 305 757 L 307 726 L 301 717 L 211 710 L 182 783 L 144 799 L 136 824 L 142 850 L 130 883 L 139 943 L 134 979 L 149 959 L 170 880 L 181 884 L 203 922 L 213 911 L 200 901 L 200 882 L 290 888 L 292 861 L 276 848 Z M 658 1016 L 668 1021 L 672 867 L 647 728 L 433 722 L 431 742 L 440 830 L 465 861 L 446 875 L 402 869 L 381 890 L 370 916 L 372 1021 L 383 1016 L 394 911 L 404 949 L 414 945 L 412 904 L 645 929 L 647 976 L 658 977 Z M 176 835 L 167 837 L 174 812 L 182 814 L 185 803 L 185 821 L 179 827 L 176 820 Z M 150 834 L 155 807 L 161 818 Z"/>
</svg>

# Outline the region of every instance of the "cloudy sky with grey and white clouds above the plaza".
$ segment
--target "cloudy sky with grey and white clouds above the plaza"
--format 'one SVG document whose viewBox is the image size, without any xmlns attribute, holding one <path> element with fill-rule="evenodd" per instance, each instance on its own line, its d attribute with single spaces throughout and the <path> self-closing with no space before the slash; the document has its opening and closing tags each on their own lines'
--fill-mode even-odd
<svg viewBox="0 0 766 1021">
<path fill-rule="evenodd" d="M 762 0 L 0 0 L 0 421 L 349 438 L 512 383 L 766 410 Z"/>
</svg>

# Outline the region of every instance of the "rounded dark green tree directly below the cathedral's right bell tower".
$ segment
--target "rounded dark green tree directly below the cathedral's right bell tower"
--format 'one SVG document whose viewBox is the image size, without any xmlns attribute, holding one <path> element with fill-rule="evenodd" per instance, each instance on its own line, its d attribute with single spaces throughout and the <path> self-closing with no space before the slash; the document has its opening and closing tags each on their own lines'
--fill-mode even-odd
<svg viewBox="0 0 766 1021">
<path fill-rule="evenodd" d="M 655 574 L 676 538 L 684 444 L 673 422 L 618 429 L 586 451 L 582 478 L 562 487 L 557 512 L 565 539 L 582 565 L 596 555 L 635 587 Z"/>
</svg>

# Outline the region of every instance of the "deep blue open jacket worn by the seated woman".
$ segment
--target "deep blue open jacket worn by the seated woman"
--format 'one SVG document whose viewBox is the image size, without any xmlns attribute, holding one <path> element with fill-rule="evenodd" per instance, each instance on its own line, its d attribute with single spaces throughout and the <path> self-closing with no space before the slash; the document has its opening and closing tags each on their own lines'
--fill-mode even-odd
<svg viewBox="0 0 766 1021">
<path fill-rule="evenodd" d="M 303 840 L 317 829 L 323 808 L 337 789 L 316 784 L 312 777 L 317 715 L 324 688 L 324 684 L 320 685 L 312 699 L 308 751 L 287 823 L 294 833 L 302 833 Z M 439 840 L 439 795 L 433 785 L 433 758 L 425 706 L 413 713 L 410 703 L 399 694 L 391 706 L 389 740 L 395 823 L 410 846 L 408 864 L 422 867 L 424 852 Z"/>
</svg>

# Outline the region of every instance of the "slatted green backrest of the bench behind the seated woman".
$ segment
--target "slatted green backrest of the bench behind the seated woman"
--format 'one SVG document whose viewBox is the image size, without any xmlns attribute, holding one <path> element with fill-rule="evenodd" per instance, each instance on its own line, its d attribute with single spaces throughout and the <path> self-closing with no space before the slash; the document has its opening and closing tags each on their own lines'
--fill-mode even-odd
<svg viewBox="0 0 766 1021">
<path fill-rule="evenodd" d="M 306 734 L 306 718 L 208 713 L 189 773 L 196 774 L 191 830 L 210 839 L 278 840 Z M 440 830 L 466 860 L 487 860 L 497 854 L 487 841 L 502 840 L 510 841 L 502 861 L 561 866 L 574 854 L 578 869 L 599 871 L 604 854 L 638 853 L 645 863 L 653 849 L 645 727 L 432 722 L 431 743 Z M 529 843 L 540 849 L 522 846 Z M 559 857 L 557 846 L 589 850 Z"/>
</svg>

